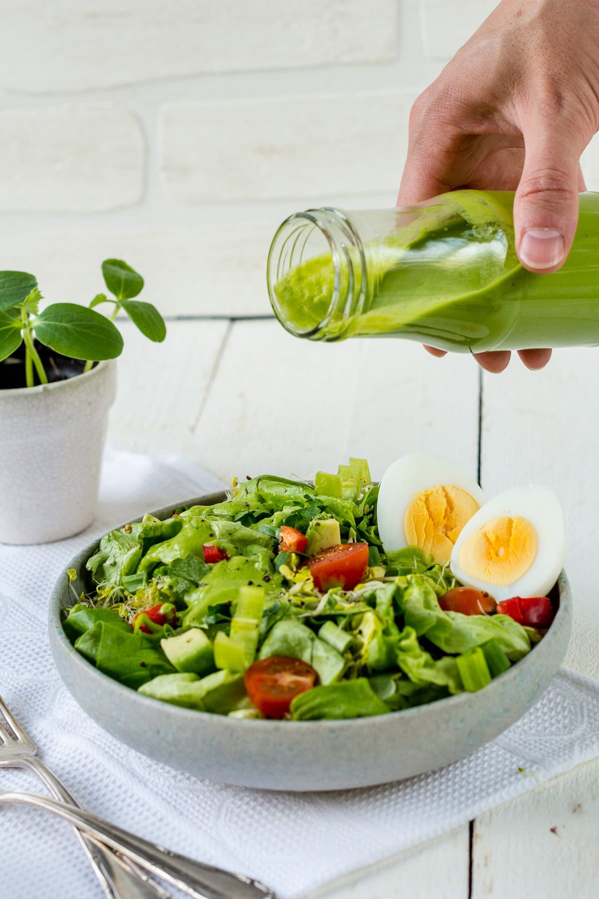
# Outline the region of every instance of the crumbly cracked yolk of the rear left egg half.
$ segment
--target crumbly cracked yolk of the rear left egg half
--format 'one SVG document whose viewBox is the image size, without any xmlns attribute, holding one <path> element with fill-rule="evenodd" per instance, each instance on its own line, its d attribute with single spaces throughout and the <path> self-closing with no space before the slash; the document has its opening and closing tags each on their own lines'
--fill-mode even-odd
<svg viewBox="0 0 599 899">
<path fill-rule="evenodd" d="M 408 546 L 420 547 L 443 564 L 452 555 L 464 524 L 478 511 L 479 503 L 462 487 L 431 487 L 417 494 L 406 510 Z"/>
</svg>

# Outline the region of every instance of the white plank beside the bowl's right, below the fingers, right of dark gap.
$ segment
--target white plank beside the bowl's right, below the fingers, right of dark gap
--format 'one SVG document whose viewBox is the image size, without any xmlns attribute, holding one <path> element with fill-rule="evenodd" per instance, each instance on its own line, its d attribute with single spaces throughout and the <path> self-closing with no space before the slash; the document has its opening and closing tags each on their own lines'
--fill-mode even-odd
<svg viewBox="0 0 599 899">
<path fill-rule="evenodd" d="M 559 494 L 576 610 L 566 664 L 594 678 L 599 678 L 597 596 L 589 561 L 597 541 L 599 421 L 593 401 L 598 380 L 595 350 L 554 352 L 539 372 L 513 360 L 500 377 L 484 378 L 482 429 L 485 490 L 492 494 L 533 481 Z"/>
</svg>

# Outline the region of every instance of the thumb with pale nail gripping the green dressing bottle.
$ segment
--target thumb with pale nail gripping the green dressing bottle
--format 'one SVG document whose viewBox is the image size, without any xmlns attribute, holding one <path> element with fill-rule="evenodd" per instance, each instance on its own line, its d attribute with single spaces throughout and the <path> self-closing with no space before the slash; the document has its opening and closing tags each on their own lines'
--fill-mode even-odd
<svg viewBox="0 0 599 899">
<path fill-rule="evenodd" d="M 578 160 L 572 133 L 534 129 L 524 135 L 524 171 L 514 201 L 515 246 L 529 271 L 557 271 L 578 220 Z"/>
</svg>

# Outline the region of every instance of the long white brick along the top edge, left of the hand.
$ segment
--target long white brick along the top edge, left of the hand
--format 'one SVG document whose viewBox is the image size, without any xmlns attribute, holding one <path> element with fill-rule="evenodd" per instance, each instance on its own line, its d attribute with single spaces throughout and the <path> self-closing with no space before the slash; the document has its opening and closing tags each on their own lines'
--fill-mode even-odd
<svg viewBox="0 0 599 899">
<path fill-rule="evenodd" d="M 16 92 L 381 63 L 397 54 L 396 0 L 21 0 L 0 6 L 0 82 Z"/>
</svg>

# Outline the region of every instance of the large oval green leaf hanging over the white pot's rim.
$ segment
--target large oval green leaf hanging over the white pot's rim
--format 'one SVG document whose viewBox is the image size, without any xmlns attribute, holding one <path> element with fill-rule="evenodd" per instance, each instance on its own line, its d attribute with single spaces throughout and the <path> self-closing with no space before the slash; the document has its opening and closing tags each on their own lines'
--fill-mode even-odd
<svg viewBox="0 0 599 899">
<path fill-rule="evenodd" d="M 33 327 L 41 343 L 75 359 L 115 359 L 123 349 L 119 329 L 99 312 L 74 303 L 54 303 Z"/>
</svg>

